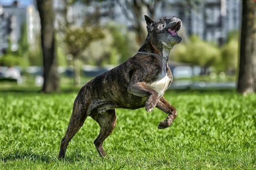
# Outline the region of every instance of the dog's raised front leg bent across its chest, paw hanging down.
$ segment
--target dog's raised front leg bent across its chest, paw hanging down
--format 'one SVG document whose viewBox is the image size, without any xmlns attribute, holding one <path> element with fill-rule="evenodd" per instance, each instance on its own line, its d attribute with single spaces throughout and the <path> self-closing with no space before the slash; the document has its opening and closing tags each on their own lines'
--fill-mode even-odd
<svg viewBox="0 0 256 170">
<path fill-rule="evenodd" d="M 152 88 L 149 88 L 148 86 L 146 86 L 142 82 L 129 84 L 127 91 L 128 93 L 131 93 L 139 97 L 148 97 L 148 100 L 145 106 L 148 113 L 151 112 L 157 105 L 158 93 Z"/>
</svg>

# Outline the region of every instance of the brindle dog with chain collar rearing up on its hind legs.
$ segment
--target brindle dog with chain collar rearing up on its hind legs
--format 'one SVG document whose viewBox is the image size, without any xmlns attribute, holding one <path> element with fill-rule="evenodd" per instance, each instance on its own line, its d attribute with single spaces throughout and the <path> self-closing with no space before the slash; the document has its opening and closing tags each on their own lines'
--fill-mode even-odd
<svg viewBox="0 0 256 170">
<path fill-rule="evenodd" d="M 94 145 L 101 157 L 107 154 L 104 140 L 113 132 L 117 116 L 115 108 L 145 107 L 149 113 L 155 107 L 168 114 L 158 128 L 168 128 L 177 116 L 177 110 L 163 97 L 173 76 L 168 66 L 168 55 L 175 44 L 182 41 L 177 35 L 182 27 L 179 18 L 161 18 L 157 21 L 145 15 L 148 35 L 138 53 L 126 62 L 85 84 L 73 105 L 70 123 L 58 157 L 65 158 L 69 141 L 90 116 L 100 126 Z"/>
</svg>

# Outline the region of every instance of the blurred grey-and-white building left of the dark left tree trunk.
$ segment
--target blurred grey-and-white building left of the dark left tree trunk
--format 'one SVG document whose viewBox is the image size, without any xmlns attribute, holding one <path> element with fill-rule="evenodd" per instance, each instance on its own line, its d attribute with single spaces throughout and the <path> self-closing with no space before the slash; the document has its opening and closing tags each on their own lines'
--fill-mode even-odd
<svg viewBox="0 0 256 170">
<path fill-rule="evenodd" d="M 9 47 L 11 51 L 18 50 L 22 26 L 27 27 L 29 47 L 35 46 L 36 35 L 40 31 L 38 18 L 38 12 L 32 3 L 24 6 L 18 0 L 13 0 L 9 4 L 0 4 L 0 57 Z"/>
</svg>

